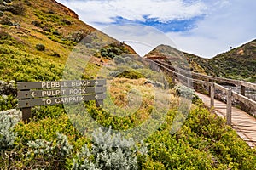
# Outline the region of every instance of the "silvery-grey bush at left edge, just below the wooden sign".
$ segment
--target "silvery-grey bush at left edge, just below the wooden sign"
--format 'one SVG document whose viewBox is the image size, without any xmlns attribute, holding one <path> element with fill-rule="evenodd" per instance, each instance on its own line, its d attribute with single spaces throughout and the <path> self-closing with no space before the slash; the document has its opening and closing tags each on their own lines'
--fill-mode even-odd
<svg viewBox="0 0 256 170">
<path fill-rule="evenodd" d="M 16 133 L 13 132 L 15 121 L 0 112 L 0 150 L 6 150 L 14 144 Z"/>
</svg>

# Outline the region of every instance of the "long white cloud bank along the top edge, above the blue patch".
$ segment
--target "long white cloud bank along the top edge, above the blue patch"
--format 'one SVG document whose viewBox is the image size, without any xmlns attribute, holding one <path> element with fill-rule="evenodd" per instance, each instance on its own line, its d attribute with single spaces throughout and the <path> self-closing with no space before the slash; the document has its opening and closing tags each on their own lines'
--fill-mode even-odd
<svg viewBox="0 0 256 170">
<path fill-rule="evenodd" d="M 87 23 L 112 23 L 117 16 L 132 21 L 145 21 L 144 16 L 155 18 L 160 22 L 168 20 L 184 20 L 205 14 L 206 5 L 200 1 L 183 3 L 182 0 L 87 0 L 60 3 L 73 8 L 82 20 Z"/>
</svg>

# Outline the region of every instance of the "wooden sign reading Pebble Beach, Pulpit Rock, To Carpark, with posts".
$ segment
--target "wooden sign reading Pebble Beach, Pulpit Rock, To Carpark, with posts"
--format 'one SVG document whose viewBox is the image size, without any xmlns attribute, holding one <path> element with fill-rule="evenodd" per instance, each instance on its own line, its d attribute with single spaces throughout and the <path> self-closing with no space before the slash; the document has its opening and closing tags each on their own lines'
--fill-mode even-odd
<svg viewBox="0 0 256 170">
<path fill-rule="evenodd" d="M 96 100 L 103 105 L 106 80 L 73 80 L 56 82 L 17 82 L 18 107 L 22 120 L 29 121 L 31 108 L 38 105 L 57 105 Z"/>
</svg>

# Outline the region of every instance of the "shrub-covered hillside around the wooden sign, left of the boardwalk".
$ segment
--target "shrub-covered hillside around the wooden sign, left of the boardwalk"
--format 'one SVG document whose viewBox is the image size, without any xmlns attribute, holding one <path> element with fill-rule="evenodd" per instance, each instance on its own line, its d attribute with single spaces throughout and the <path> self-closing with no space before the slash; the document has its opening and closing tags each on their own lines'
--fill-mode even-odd
<svg viewBox="0 0 256 170">
<path fill-rule="evenodd" d="M 166 75 L 72 10 L 54 0 L 0 0 L 0 26 L 0 169 L 256 169 L 256 150 L 191 90 L 165 88 Z M 16 82 L 60 80 L 67 65 L 71 77 L 108 80 L 104 107 L 37 106 L 20 121 Z"/>
</svg>

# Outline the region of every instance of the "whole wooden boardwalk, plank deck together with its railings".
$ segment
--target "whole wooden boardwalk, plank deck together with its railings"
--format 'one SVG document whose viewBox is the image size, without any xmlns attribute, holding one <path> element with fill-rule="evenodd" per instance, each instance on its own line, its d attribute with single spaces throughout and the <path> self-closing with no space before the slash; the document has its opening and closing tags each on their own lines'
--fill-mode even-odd
<svg viewBox="0 0 256 170">
<path fill-rule="evenodd" d="M 246 104 L 256 111 L 256 101 L 249 99 L 245 95 L 247 88 L 256 92 L 256 83 L 203 75 L 174 67 L 160 59 L 153 60 L 152 62 L 160 66 L 163 71 L 168 72 L 170 77 L 172 77 L 172 81 L 175 83 L 182 83 L 184 86 L 192 89 L 194 89 L 195 84 L 209 89 L 209 94 L 212 98 L 204 94 L 196 94 L 203 100 L 207 107 L 214 107 L 213 111 L 218 116 L 224 117 L 227 124 L 233 127 L 241 139 L 246 141 L 250 147 L 253 148 L 256 146 L 256 119 L 245 111 L 232 107 L 232 99 L 236 99 L 241 103 L 241 107 L 245 107 L 243 104 Z M 234 87 L 239 87 L 240 93 L 236 93 L 232 89 L 225 88 L 221 85 L 227 83 Z M 217 90 L 225 95 L 227 104 L 214 99 Z"/>
</svg>

